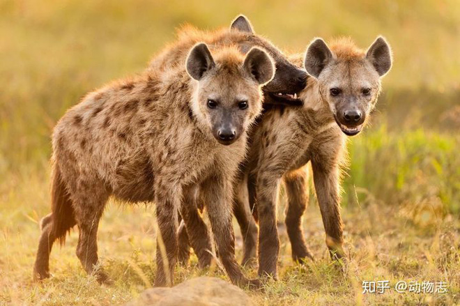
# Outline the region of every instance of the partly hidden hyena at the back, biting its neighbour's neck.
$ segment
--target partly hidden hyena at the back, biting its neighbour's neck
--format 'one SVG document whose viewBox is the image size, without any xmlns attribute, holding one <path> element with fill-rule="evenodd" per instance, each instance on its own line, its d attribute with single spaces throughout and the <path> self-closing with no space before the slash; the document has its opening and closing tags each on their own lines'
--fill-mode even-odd
<svg viewBox="0 0 460 306">
<path fill-rule="evenodd" d="M 186 50 L 192 47 L 195 43 L 204 41 L 210 48 L 220 48 L 223 46 L 235 46 L 238 49 L 246 53 L 252 47 L 262 47 L 265 49 L 275 61 L 276 72 L 275 77 L 263 86 L 263 93 L 270 104 L 277 105 L 302 105 L 302 101 L 298 99 L 297 94 L 305 88 L 307 80 L 307 72 L 293 65 L 286 56 L 282 54 L 272 43 L 266 38 L 263 38 L 254 33 L 253 27 L 247 17 L 240 15 L 231 22 L 230 29 L 219 29 L 217 31 L 200 31 L 192 26 L 185 26 L 181 31 L 178 32 L 178 40 L 173 44 L 166 47 L 160 54 L 155 56 L 151 61 L 148 69 L 156 72 L 168 70 L 171 66 L 180 65 L 185 61 L 187 56 Z M 197 192 L 192 192 L 192 195 Z M 184 247 L 181 248 L 183 252 L 179 253 L 179 259 L 182 262 L 186 262 L 190 256 L 189 244 L 193 247 L 199 257 L 199 266 L 207 266 L 212 256 L 208 250 L 211 249 L 210 240 L 202 240 L 202 237 L 208 236 L 206 231 L 206 225 L 204 224 L 201 216 L 197 209 L 193 207 L 201 206 L 202 201 L 198 201 L 195 197 L 188 197 L 190 205 L 185 206 L 189 208 L 187 211 L 181 211 L 181 215 L 187 215 L 190 220 L 189 225 L 193 229 L 186 231 L 186 224 L 181 223 L 179 227 L 179 242 Z M 244 232 L 257 231 L 256 224 L 254 221 L 247 222 L 245 215 L 249 213 L 247 206 L 234 206 L 235 211 L 233 212 L 238 216 L 240 227 Z M 241 211 L 240 208 L 244 208 L 245 211 Z M 241 217 L 239 217 L 241 215 Z M 199 224 L 192 226 L 192 224 Z M 256 236 L 255 236 L 256 239 Z M 245 236 L 245 250 L 252 250 L 252 253 L 245 254 L 245 259 L 254 257 L 254 239 L 247 238 Z M 243 261 L 245 262 L 245 261 Z"/>
</svg>

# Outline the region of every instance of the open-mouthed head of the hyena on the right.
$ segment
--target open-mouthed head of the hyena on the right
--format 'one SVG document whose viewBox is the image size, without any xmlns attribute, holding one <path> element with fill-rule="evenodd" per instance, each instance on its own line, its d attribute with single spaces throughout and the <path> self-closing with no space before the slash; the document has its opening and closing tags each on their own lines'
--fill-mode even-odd
<svg viewBox="0 0 460 306">
<path fill-rule="evenodd" d="M 365 52 L 349 39 L 337 40 L 329 48 L 317 38 L 307 48 L 305 70 L 318 80 L 321 99 L 348 136 L 367 123 L 381 91 L 381 77 L 390 70 L 390 45 L 378 37 Z"/>
</svg>

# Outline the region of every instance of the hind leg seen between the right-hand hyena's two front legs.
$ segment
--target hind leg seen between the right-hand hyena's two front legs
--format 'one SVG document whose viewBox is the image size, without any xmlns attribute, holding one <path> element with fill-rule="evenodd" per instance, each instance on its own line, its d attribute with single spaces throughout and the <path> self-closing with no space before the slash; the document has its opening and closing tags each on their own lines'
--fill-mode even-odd
<svg viewBox="0 0 460 306">
<path fill-rule="evenodd" d="M 284 176 L 288 206 L 286 209 L 286 229 L 291 241 L 292 259 L 303 261 L 313 259 L 302 233 L 302 215 L 307 208 L 309 189 L 307 169 L 300 169 Z"/>
</svg>

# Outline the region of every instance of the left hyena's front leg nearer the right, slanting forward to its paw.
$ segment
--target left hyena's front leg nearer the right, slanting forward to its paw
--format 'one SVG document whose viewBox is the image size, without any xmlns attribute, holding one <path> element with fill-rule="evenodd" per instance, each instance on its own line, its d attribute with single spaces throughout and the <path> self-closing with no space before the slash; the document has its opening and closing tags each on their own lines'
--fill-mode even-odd
<svg viewBox="0 0 460 306">
<path fill-rule="evenodd" d="M 235 258 L 235 236 L 231 224 L 231 178 L 212 176 L 201 184 L 204 204 L 209 215 L 211 229 L 220 261 L 233 284 L 259 288 L 259 280 L 248 280 Z"/>
</svg>

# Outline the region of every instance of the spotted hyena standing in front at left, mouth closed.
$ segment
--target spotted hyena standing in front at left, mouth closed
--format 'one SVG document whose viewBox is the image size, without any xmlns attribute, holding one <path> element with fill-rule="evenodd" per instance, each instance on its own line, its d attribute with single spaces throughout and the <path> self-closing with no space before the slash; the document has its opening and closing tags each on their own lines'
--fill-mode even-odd
<svg viewBox="0 0 460 306">
<path fill-rule="evenodd" d="M 70 109 L 54 129 L 52 213 L 42 222 L 34 276 L 49 276 L 52 244 L 63 242 L 77 224 L 77 257 L 87 273 L 108 280 L 95 269 L 96 236 L 105 203 L 114 195 L 132 203 L 155 202 L 155 285 L 171 285 L 178 210 L 183 195 L 200 185 L 231 281 L 259 284 L 247 280 L 234 257 L 231 197 L 246 130 L 261 110 L 261 85 L 274 72 L 262 49 L 244 56 L 228 47 L 211 55 L 201 43 L 185 65 L 110 84 Z"/>
</svg>

